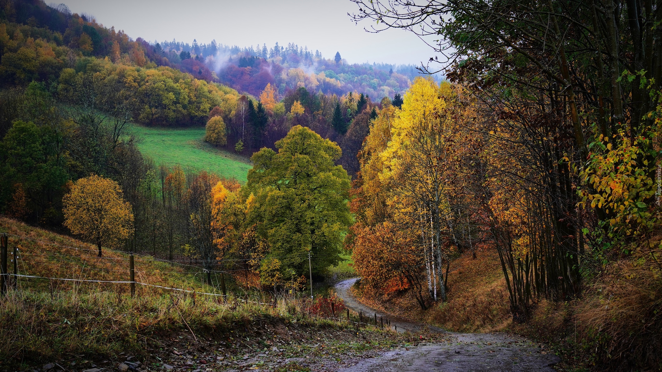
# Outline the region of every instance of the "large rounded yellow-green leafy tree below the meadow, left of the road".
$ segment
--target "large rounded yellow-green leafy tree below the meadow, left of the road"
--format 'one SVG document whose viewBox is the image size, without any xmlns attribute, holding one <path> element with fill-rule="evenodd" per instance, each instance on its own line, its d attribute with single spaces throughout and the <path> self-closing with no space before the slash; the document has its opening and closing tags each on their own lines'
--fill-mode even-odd
<svg viewBox="0 0 662 372">
<path fill-rule="evenodd" d="M 342 151 L 309 128 L 294 126 L 276 142 L 278 152 L 263 148 L 253 155 L 246 195 L 253 193 L 258 232 L 267 240 L 267 257 L 277 257 L 279 272 L 291 277 L 337 265 L 352 215 L 350 177 L 334 162 Z M 269 271 L 269 275 L 273 275 Z"/>
</svg>

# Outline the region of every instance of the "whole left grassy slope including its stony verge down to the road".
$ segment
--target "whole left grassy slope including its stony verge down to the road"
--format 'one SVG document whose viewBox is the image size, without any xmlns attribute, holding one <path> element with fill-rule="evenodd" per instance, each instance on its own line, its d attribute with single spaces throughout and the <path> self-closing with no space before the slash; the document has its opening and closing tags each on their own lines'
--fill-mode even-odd
<svg viewBox="0 0 662 372">
<path fill-rule="evenodd" d="M 128 280 L 126 255 L 120 252 L 104 249 L 104 258 L 99 259 L 89 244 L 3 217 L 0 233 L 32 239 L 9 237 L 10 248 L 19 246 L 21 274 Z M 11 263 L 9 267 L 12 272 Z M 345 264 L 341 271 L 348 268 Z M 136 259 L 138 281 L 213 290 L 201 287 L 199 275 L 196 279 L 187 271 L 190 269 L 149 257 Z M 0 301 L 0 322 L 5 324 L 0 327 L 0 370 L 28 371 L 56 362 L 72 371 L 95 365 L 112 371 L 126 355 L 138 357 L 150 369 L 163 363 L 187 367 L 185 361 L 192 362 L 193 368 L 209 367 L 201 365 L 200 360 L 205 359 L 216 370 L 236 368 L 235 361 L 248 363 L 246 367 L 261 365 L 267 358 L 258 354 L 277 346 L 281 352 L 269 355 L 268 361 L 277 365 L 273 371 L 308 371 L 307 364 L 297 363 L 304 360 L 328 368 L 338 362 L 335 367 L 339 368 L 363 357 L 357 353 L 375 355 L 378 350 L 409 346 L 414 341 L 408 335 L 372 328 L 356 332 L 346 324 L 310 318 L 305 315 L 305 299 L 281 298 L 274 306 L 269 300 L 267 304 L 234 298 L 220 301 L 218 297 L 140 286 L 131 298 L 126 283 L 74 286 L 70 281 L 25 278 L 19 289 L 10 290 Z M 244 355 L 252 359 L 246 361 Z M 225 361 L 217 361 L 217 357 Z M 289 361 L 291 357 L 300 359 Z M 304 359 L 308 357 L 314 358 Z"/>
</svg>

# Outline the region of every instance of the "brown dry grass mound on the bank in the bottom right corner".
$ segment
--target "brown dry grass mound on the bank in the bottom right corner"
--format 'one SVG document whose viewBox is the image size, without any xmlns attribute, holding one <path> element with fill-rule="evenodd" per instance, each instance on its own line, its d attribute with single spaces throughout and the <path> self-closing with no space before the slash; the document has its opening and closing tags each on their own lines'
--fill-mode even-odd
<svg viewBox="0 0 662 372">
<path fill-rule="evenodd" d="M 614 263 L 577 306 L 581 346 L 604 370 L 662 370 L 661 253 L 644 249 Z"/>
</svg>

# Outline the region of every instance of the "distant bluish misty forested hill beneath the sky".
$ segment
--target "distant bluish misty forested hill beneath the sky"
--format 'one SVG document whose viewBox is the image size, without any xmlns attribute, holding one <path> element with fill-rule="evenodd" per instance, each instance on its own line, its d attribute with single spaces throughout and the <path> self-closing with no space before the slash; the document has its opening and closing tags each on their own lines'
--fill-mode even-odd
<svg viewBox="0 0 662 372">
<path fill-rule="evenodd" d="M 163 51 L 166 58 L 183 70 L 199 73 L 205 78 L 220 81 L 238 91 L 252 95 L 260 94 L 267 83 L 277 87 L 283 95 L 289 89 L 304 86 L 308 91 L 342 95 L 348 91 L 363 93 L 381 99 L 408 89 L 414 77 L 422 75 L 412 65 L 395 64 L 351 64 L 340 52 L 332 58 L 324 58 L 308 47 L 289 43 L 287 46 L 250 46 L 240 48 L 217 44 L 193 44 L 177 42 L 154 42 L 156 50 Z M 191 60 L 204 62 L 207 70 Z M 211 76 L 209 76 L 209 75 Z"/>
</svg>

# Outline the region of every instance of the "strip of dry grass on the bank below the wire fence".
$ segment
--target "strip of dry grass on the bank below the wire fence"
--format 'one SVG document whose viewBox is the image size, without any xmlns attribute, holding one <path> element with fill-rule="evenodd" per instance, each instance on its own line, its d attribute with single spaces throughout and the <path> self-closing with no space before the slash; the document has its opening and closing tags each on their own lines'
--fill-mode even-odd
<svg viewBox="0 0 662 372">
<path fill-rule="evenodd" d="M 272 305 L 185 293 L 131 298 L 76 288 L 52 294 L 9 291 L 0 304 L 0 368 L 62 355 L 113 357 L 127 349 L 146 353 L 146 340 L 160 332 L 223 334 L 256 320 L 302 318 L 306 306 L 306 300 L 294 298 Z"/>
</svg>

